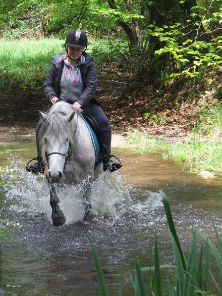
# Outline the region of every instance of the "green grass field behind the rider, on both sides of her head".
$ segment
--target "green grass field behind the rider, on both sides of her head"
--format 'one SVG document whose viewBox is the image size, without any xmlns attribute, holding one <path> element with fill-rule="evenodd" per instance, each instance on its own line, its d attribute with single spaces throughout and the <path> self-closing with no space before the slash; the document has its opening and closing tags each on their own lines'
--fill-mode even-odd
<svg viewBox="0 0 222 296">
<path fill-rule="evenodd" d="M 64 43 L 64 40 L 48 38 L 0 39 L 0 90 L 6 93 L 40 90 L 51 58 L 65 51 Z M 87 52 L 96 63 L 117 60 L 123 58 L 126 45 L 120 40 L 90 40 Z"/>
</svg>

